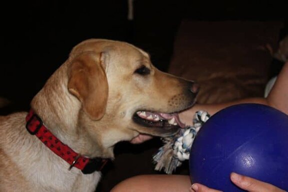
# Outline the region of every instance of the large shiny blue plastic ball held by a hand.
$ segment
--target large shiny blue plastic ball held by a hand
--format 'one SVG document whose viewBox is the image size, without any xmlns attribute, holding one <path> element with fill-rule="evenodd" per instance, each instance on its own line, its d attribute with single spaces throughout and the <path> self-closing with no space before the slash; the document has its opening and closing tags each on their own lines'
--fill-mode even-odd
<svg viewBox="0 0 288 192">
<path fill-rule="evenodd" d="M 191 181 L 243 191 L 236 172 L 288 190 L 288 115 L 263 104 L 236 104 L 212 115 L 191 146 Z"/>
</svg>

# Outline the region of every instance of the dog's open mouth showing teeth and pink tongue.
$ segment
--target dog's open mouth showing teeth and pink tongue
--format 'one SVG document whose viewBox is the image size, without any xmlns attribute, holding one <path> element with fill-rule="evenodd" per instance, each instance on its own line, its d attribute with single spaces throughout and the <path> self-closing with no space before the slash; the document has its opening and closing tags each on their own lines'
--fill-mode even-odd
<svg viewBox="0 0 288 192">
<path fill-rule="evenodd" d="M 185 124 L 179 119 L 178 113 L 162 113 L 140 110 L 134 113 L 133 121 L 145 127 L 154 128 L 183 128 Z"/>
</svg>

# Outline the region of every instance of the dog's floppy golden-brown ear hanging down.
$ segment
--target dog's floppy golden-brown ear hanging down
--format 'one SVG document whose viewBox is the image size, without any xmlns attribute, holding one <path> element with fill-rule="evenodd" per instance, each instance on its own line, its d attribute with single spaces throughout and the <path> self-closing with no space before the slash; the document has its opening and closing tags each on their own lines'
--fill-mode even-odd
<svg viewBox="0 0 288 192">
<path fill-rule="evenodd" d="M 108 82 L 103 54 L 83 52 L 70 63 L 68 90 L 82 102 L 82 109 L 93 120 L 102 118 L 107 104 Z"/>
</svg>

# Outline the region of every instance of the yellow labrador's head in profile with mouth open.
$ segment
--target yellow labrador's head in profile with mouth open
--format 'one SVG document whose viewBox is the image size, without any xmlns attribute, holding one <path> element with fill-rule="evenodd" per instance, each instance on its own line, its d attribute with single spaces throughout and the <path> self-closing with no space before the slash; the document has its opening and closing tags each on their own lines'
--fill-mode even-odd
<svg viewBox="0 0 288 192">
<path fill-rule="evenodd" d="M 65 63 L 68 92 L 79 102 L 78 132 L 102 151 L 139 134 L 176 133 L 183 126 L 177 112 L 195 100 L 193 81 L 159 71 L 146 52 L 126 42 L 85 40 Z"/>
</svg>

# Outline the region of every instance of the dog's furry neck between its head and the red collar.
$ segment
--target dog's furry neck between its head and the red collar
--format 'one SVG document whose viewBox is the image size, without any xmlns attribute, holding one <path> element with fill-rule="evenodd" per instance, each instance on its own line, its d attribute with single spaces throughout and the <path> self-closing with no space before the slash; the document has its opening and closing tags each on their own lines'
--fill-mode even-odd
<svg viewBox="0 0 288 192">
<path fill-rule="evenodd" d="M 46 127 L 73 150 L 89 157 L 113 158 L 112 148 L 103 151 L 100 141 L 83 136 L 87 132 L 80 122 L 84 118 L 81 102 L 68 92 L 66 64 L 60 66 L 33 97 L 31 107 Z"/>
</svg>

